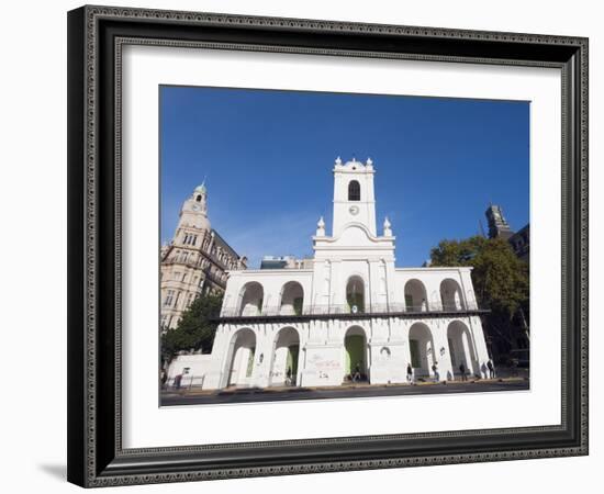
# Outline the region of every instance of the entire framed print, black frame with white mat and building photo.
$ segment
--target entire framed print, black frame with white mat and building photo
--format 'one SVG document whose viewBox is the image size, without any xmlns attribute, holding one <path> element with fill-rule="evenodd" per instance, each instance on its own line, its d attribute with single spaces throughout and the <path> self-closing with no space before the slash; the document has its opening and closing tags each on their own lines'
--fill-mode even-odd
<svg viewBox="0 0 604 494">
<path fill-rule="evenodd" d="M 588 40 L 68 14 L 68 479 L 588 453 Z"/>
</svg>

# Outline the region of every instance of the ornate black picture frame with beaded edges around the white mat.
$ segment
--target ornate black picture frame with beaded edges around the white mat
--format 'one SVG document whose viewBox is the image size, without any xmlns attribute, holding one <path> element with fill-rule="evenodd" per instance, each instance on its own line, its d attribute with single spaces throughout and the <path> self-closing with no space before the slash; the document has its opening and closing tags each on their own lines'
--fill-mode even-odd
<svg viewBox="0 0 604 494">
<path fill-rule="evenodd" d="M 562 408 L 556 426 L 124 449 L 121 50 L 127 44 L 562 72 Z M 588 40 L 82 7 L 68 13 L 68 480 L 108 486 L 588 454 Z"/>
</svg>

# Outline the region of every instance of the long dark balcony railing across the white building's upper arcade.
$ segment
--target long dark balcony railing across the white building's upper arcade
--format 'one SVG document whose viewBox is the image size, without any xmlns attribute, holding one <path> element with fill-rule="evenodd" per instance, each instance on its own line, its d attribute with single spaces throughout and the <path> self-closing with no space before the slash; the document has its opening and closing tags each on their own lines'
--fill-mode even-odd
<svg viewBox="0 0 604 494">
<path fill-rule="evenodd" d="M 489 312 L 484 307 L 479 308 L 476 304 L 469 304 L 468 307 L 461 304 L 432 304 L 429 307 L 424 305 L 405 305 L 405 304 L 369 304 L 366 306 L 345 305 L 309 305 L 301 311 L 293 311 L 291 306 L 278 307 L 269 306 L 261 310 L 250 310 L 249 306 L 245 311 L 236 308 L 224 308 L 220 318 L 311 318 L 317 316 L 343 316 L 362 318 L 368 316 L 383 315 L 415 315 L 415 316 L 435 316 L 444 313 L 484 313 Z"/>
</svg>

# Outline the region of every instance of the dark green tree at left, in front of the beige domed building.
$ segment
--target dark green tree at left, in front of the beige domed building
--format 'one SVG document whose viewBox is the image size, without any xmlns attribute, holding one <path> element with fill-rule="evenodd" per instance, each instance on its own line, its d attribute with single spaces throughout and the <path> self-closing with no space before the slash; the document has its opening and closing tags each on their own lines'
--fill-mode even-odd
<svg viewBox="0 0 604 494">
<path fill-rule="evenodd" d="M 198 296 L 182 313 L 177 327 L 161 335 L 163 359 L 170 361 L 179 351 L 191 349 L 210 353 L 217 327 L 215 318 L 220 315 L 221 306 L 222 294 Z"/>
</svg>

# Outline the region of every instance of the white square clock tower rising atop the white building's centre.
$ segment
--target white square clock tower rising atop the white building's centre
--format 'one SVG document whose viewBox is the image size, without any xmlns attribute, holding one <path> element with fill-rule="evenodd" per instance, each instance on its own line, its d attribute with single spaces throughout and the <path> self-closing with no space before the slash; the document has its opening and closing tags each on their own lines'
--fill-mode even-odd
<svg viewBox="0 0 604 494">
<path fill-rule="evenodd" d="M 363 225 L 376 236 L 376 197 L 373 195 L 373 161 L 365 164 L 353 158 L 334 164 L 334 223 L 332 236 L 337 237 L 350 223 Z"/>
</svg>

